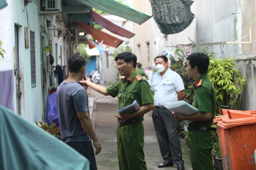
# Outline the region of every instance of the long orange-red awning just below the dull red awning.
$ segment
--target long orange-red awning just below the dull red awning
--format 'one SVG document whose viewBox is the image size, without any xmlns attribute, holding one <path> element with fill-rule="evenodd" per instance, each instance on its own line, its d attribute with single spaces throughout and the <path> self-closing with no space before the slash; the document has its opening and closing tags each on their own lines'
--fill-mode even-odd
<svg viewBox="0 0 256 170">
<path fill-rule="evenodd" d="M 103 44 L 112 46 L 112 47 L 118 47 L 123 41 L 121 39 L 118 39 L 116 37 L 113 37 L 105 32 L 102 32 L 96 28 L 90 27 L 89 25 L 77 22 L 77 24 L 85 30 L 88 34 L 93 36 L 94 39 L 98 40 L 98 42 L 101 42 L 103 40 Z"/>
</svg>

